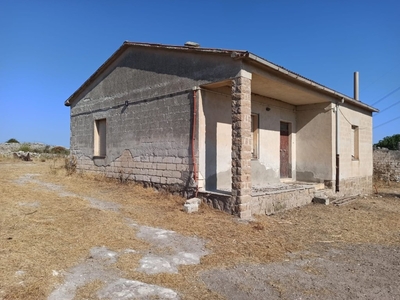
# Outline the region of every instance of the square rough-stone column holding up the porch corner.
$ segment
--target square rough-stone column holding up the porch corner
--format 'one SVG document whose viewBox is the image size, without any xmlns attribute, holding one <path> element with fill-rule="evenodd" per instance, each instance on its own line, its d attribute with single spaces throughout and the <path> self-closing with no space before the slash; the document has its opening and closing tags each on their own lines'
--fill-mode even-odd
<svg viewBox="0 0 400 300">
<path fill-rule="evenodd" d="M 251 73 L 232 80 L 232 200 L 240 218 L 251 217 Z"/>
</svg>

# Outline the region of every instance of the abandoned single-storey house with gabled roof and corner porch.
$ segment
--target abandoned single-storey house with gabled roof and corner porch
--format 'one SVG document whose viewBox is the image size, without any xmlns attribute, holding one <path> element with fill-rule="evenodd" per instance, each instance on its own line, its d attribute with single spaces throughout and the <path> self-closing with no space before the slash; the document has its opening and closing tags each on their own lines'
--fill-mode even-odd
<svg viewBox="0 0 400 300">
<path fill-rule="evenodd" d="M 376 109 L 355 98 L 248 51 L 124 42 L 65 105 L 79 170 L 248 218 L 371 191 Z"/>
</svg>

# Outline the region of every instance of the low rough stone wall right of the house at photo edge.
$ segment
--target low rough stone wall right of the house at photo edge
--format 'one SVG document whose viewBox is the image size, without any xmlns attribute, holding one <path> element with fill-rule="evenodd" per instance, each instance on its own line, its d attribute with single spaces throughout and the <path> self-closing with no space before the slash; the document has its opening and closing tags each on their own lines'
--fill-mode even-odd
<svg viewBox="0 0 400 300">
<path fill-rule="evenodd" d="M 380 180 L 400 182 L 400 150 L 374 150 L 374 176 Z"/>
</svg>

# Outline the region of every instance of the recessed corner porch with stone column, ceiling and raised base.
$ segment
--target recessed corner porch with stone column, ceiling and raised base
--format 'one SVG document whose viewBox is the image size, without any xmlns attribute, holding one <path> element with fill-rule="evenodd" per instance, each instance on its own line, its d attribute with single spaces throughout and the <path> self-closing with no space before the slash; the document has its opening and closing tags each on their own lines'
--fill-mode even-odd
<svg viewBox="0 0 400 300">
<path fill-rule="evenodd" d="M 213 207 L 272 214 L 310 203 L 316 183 L 332 179 L 326 97 L 242 70 L 200 87 L 198 98 L 199 193 Z"/>
</svg>

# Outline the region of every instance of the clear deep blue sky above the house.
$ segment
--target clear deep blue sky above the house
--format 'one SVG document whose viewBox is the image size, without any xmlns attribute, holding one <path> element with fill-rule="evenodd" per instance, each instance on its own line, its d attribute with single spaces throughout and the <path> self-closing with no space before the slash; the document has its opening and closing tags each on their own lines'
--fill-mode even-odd
<svg viewBox="0 0 400 300">
<path fill-rule="evenodd" d="M 0 142 L 69 147 L 64 101 L 125 40 L 248 50 L 349 96 L 359 71 L 377 142 L 400 133 L 399 15 L 398 0 L 1 0 Z"/>
</svg>

